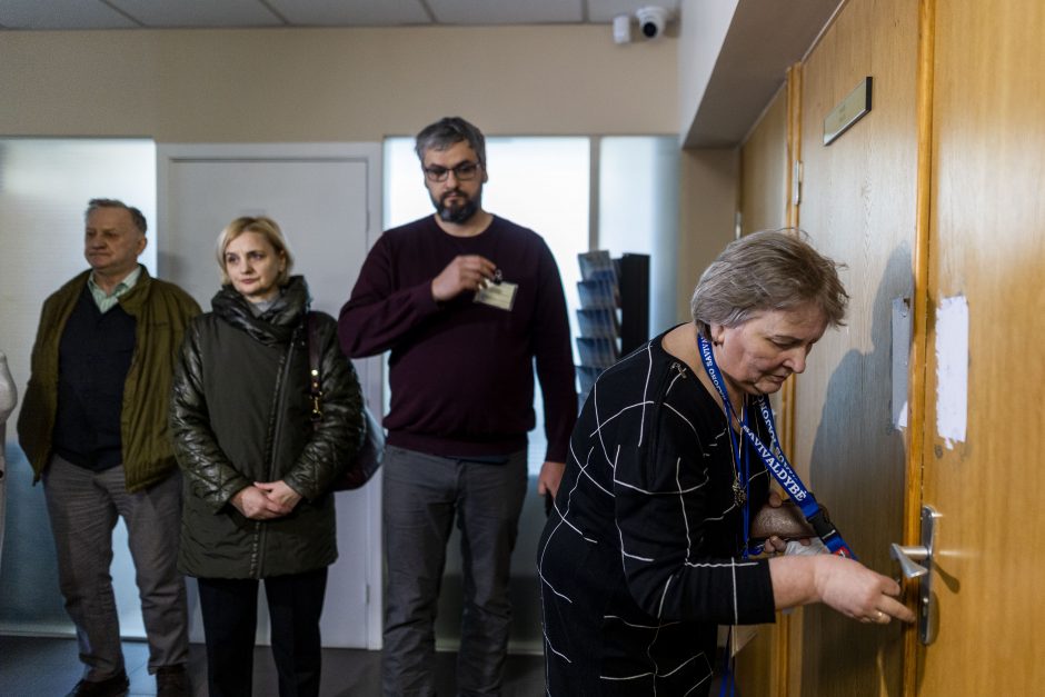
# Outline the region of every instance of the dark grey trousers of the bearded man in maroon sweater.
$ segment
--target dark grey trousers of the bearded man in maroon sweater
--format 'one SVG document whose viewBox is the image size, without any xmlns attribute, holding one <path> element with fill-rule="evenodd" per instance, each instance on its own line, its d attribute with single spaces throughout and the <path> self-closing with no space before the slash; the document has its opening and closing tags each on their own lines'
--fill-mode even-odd
<svg viewBox="0 0 1045 697">
<path fill-rule="evenodd" d="M 511 550 L 526 496 L 526 450 L 505 464 L 489 464 L 389 446 L 384 468 L 385 695 L 436 694 L 435 619 L 455 517 L 465 576 L 458 694 L 500 694 L 511 625 Z"/>
</svg>

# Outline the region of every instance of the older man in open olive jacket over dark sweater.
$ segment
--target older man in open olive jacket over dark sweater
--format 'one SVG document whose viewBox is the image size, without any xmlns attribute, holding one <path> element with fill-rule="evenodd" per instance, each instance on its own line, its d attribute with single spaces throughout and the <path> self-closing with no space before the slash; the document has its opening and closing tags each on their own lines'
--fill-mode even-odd
<svg viewBox="0 0 1045 697">
<path fill-rule="evenodd" d="M 109 566 L 127 525 L 157 695 L 187 695 L 185 580 L 177 569 L 181 477 L 167 429 L 173 360 L 200 308 L 138 263 L 146 219 L 93 199 L 91 269 L 43 303 L 18 436 L 43 494 L 83 679 L 71 695 L 123 695 L 127 673 Z"/>
</svg>

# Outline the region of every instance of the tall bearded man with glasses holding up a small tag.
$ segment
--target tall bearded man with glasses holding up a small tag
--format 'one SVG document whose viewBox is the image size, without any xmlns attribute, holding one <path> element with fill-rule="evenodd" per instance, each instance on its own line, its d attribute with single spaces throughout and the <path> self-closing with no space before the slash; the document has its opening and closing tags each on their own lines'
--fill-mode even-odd
<svg viewBox="0 0 1045 697">
<path fill-rule="evenodd" d="M 386 695 L 434 695 L 435 617 L 455 518 L 464 610 L 457 689 L 497 695 L 508 578 L 534 428 L 534 366 L 555 495 L 577 411 L 566 300 L 545 241 L 482 209 L 482 133 L 445 118 L 417 136 L 436 213 L 386 231 L 367 256 L 339 336 L 354 358 L 391 351 L 385 456 Z"/>
</svg>

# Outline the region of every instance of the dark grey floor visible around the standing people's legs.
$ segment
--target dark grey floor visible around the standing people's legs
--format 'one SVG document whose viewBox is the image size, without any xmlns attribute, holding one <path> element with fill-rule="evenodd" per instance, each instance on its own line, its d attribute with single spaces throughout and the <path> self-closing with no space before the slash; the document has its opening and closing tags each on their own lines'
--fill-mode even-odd
<svg viewBox="0 0 1045 697">
<path fill-rule="evenodd" d="M 456 654 L 437 654 L 439 695 L 456 694 Z M 156 695 L 156 681 L 146 668 L 149 648 L 143 641 L 125 641 L 123 660 L 130 677 L 130 695 Z M 380 695 L 378 651 L 325 649 L 324 697 L 377 697 Z M 207 697 L 207 664 L 203 647 L 193 644 L 189 654 L 193 696 Z M 6 697 L 61 697 L 81 677 L 73 639 L 0 636 L 0 695 Z M 509 656 L 504 697 L 544 695 L 544 659 Z M 255 649 L 255 697 L 277 697 L 276 667 L 268 647 Z"/>
</svg>

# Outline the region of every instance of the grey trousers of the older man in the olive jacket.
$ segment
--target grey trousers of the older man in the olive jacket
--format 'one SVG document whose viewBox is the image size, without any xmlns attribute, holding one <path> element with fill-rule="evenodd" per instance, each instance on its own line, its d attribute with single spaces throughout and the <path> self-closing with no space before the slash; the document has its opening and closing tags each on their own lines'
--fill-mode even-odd
<svg viewBox="0 0 1045 697">
<path fill-rule="evenodd" d="M 43 494 L 58 550 L 58 581 L 77 628 L 88 680 L 123 669 L 120 620 L 112 594 L 112 529 L 127 526 L 135 580 L 149 639 L 149 673 L 189 658 L 185 578 L 178 572 L 181 474 L 128 494 L 123 467 L 94 472 L 53 456 Z"/>
</svg>

